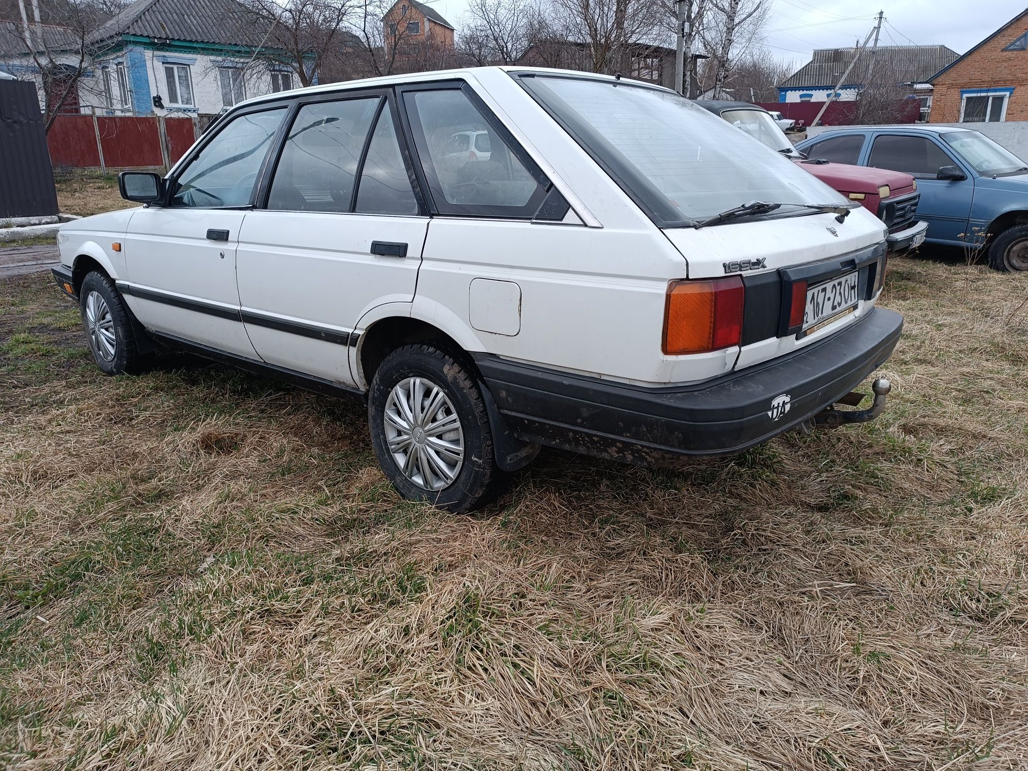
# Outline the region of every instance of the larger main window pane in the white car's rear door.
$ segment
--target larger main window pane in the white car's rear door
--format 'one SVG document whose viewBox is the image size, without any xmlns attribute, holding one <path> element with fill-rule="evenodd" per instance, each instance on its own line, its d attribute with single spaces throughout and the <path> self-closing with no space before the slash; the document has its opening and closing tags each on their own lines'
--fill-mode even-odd
<svg viewBox="0 0 1028 771">
<path fill-rule="evenodd" d="M 276 167 L 267 208 L 348 212 L 361 153 L 380 101 L 376 96 L 301 107 Z"/>
</svg>

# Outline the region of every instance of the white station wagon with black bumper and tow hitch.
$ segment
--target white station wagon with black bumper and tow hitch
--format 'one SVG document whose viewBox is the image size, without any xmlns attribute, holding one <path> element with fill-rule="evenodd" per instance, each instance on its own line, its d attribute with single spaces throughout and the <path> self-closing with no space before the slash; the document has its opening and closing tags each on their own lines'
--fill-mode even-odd
<svg viewBox="0 0 1028 771">
<path fill-rule="evenodd" d="M 53 271 L 101 369 L 167 346 L 361 396 L 396 488 L 451 511 L 544 444 L 657 464 L 884 408 L 886 380 L 838 408 L 903 326 L 882 223 L 664 88 L 331 83 L 119 182 L 143 206 L 64 225 Z"/>
</svg>

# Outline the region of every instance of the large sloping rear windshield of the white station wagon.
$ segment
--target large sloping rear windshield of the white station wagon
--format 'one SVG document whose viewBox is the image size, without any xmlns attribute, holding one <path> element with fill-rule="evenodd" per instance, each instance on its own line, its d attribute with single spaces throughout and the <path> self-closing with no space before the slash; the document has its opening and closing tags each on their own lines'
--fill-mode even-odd
<svg viewBox="0 0 1028 771">
<path fill-rule="evenodd" d="M 791 204 L 845 203 L 781 153 L 672 91 L 534 74 L 521 82 L 661 226 L 692 225 L 755 200 L 783 205 L 764 217 L 809 213 Z"/>
</svg>

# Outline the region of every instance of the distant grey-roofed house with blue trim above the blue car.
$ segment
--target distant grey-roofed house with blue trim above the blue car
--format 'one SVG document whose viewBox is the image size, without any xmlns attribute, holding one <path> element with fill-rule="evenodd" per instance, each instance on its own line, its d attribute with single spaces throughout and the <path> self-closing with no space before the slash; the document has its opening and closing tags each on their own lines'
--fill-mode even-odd
<svg viewBox="0 0 1028 771">
<path fill-rule="evenodd" d="M 932 75 L 959 58 L 945 45 L 880 45 L 859 54 L 846 76 L 836 85 L 857 56 L 858 48 L 818 48 L 805 64 L 778 85 L 779 102 L 827 102 L 832 94 L 840 101 L 854 100 L 874 78 L 876 83 L 894 82 L 920 99 L 927 116 L 931 104 Z"/>
</svg>

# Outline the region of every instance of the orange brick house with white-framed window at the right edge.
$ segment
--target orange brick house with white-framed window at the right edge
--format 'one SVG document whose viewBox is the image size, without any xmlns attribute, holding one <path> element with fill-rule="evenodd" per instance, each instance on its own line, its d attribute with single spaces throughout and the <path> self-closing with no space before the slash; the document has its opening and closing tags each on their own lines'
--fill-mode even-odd
<svg viewBox="0 0 1028 771">
<path fill-rule="evenodd" d="M 935 73 L 932 123 L 1028 120 L 1028 10 Z"/>
</svg>

